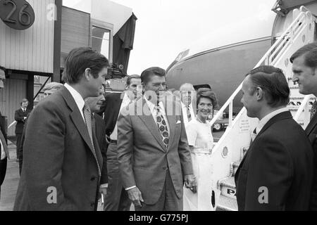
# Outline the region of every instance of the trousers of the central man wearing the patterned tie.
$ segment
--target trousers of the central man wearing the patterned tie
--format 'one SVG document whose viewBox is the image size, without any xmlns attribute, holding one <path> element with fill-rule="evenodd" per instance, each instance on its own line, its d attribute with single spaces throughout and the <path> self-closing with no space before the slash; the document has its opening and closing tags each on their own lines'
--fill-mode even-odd
<svg viewBox="0 0 317 225">
<path fill-rule="evenodd" d="M 166 172 L 165 184 L 159 201 L 154 205 L 142 204 L 142 207 L 135 207 L 135 211 L 182 211 L 182 198 L 176 195 L 170 172 Z"/>
</svg>

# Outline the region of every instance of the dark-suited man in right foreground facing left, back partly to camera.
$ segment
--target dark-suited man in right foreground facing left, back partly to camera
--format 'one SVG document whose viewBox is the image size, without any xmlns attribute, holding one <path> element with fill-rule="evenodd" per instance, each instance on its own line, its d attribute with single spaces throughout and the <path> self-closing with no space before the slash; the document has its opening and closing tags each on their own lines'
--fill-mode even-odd
<svg viewBox="0 0 317 225">
<path fill-rule="evenodd" d="M 282 70 L 260 66 L 242 85 L 249 117 L 260 122 L 235 175 L 237 204 L 244 210 L 308 210 L 313 150 L 286 108 L 290 88 Z"/>
</svg>

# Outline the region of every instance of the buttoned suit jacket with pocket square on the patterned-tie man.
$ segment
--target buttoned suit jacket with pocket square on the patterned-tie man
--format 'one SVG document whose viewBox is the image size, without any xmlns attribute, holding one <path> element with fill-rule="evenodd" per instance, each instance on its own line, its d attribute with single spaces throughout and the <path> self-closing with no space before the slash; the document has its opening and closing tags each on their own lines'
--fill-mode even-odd
<svg viewBox="0 0 317 225">
<path fill-rule="evenodd" d="M 123 186 L 137 186 L 147 205 L 159 200 L 167 170 L 178 198 L 182 198 L 183 176 L 193 173 L 180 103 L 173 101 L 166 105 L 174 105 L 176 112 L 167 115 L 170 127 L 167 149 L 144 98 L 124 108 L 118 120 L 118 160 Z M 131 109 L 143 115 L 129 115 Z"/>
</svg>

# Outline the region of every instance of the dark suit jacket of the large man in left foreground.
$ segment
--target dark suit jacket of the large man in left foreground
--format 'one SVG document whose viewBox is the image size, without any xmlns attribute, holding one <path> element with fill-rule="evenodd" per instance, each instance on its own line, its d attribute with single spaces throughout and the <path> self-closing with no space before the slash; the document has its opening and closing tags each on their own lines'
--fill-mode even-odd
<svg viewBox="0 0 317 225">
<path fill-rule="evenodd" d="M 96 210 L 102 157 L 68 89 L 41 101 L 27 122 L 13 210 Z"/>
</svg>

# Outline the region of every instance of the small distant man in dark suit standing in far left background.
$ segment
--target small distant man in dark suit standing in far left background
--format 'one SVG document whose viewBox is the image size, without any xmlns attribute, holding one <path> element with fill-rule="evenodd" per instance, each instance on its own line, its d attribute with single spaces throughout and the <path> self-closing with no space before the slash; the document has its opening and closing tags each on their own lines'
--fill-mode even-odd
<svg viewBox="0 0 317 225">
<path fill-rule="evenodd" d="M 23 127 L 25 124 L 25 121 L 27 120 L 27 115 L 31 113 L 31 110 L 27 108 L 29 105 L 29 101 L 27 101 L 26 98 L 22 100 L 20 103 L 21 108 L 15 111 L 14 114 L 14 120 L 17 122 L 15 125 L 15 136 L 16 136 L 16 160 L 17 162 L 20 159 L 20 152 L 19 152 L 19 147 L 21 143 L 21 137 L 23 134 Z"/>
</svg>

